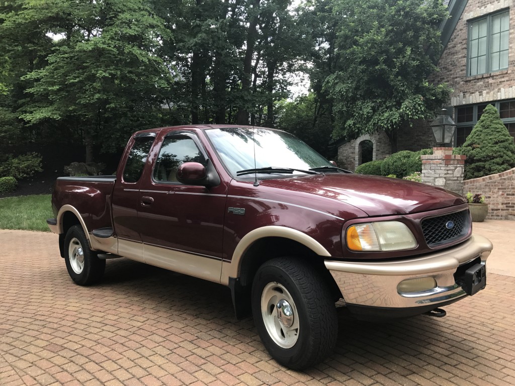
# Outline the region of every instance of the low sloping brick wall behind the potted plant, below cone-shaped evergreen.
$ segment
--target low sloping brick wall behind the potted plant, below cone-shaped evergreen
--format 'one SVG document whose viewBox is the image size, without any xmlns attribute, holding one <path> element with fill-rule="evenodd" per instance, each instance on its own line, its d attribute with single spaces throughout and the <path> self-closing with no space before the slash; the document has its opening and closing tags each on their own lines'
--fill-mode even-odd
<svg viewBox="0 0 515 386">
<path fill-rule="evenodd" d="M 464 194 L 483 194 L 488 203 L 487 219 L 515 220 L 515 168 L 490 176 L 465 180 Z"/>
</svg>

